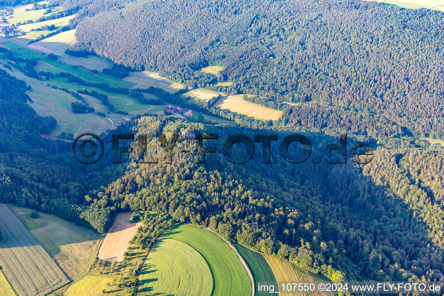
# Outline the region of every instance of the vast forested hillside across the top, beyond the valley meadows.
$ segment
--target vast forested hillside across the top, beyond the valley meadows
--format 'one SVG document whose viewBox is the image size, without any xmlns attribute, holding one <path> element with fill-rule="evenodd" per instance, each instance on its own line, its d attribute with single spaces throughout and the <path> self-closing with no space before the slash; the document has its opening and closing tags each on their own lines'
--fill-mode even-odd
<svg viewBox="0 0 444 296">
<path fill-rule="evenodd" d="M 306 112 L 321 112 L 305 107 L 320 102 L 391 122 L 387 134 L 440 138 L 442 20 L 361 0 L 142 0 L 80 22 L 73 49 L 192 87 L 302 102 Z M 217 78 L 195 71 L 209 64 L 224 67 Z M 215 84 L 225 81 L 233 85 Z"/>
</svg>

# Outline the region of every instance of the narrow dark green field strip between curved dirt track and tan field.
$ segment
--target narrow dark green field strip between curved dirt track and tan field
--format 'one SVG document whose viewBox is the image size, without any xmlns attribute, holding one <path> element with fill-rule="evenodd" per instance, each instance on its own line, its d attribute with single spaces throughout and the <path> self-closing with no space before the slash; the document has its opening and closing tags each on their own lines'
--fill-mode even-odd
<svg viewBox="0 0 444 296">
<path fill-rule="evenodd" d="M 258 294 L 258 282 L 263 281 L 276 281 L 274 277 L 274 273 L 270 268 L 270 265 L 265 260 L 265 257 L 257 252 L 254 252 L 246 247 L 235 244 L 234 245 L 238 250 L 239 254 L 245 260 L 248 268 L 254 279 L 254 294 Z M 261 294 L 264 296 L 271 296 L 273 294 Z"/>
</svg>

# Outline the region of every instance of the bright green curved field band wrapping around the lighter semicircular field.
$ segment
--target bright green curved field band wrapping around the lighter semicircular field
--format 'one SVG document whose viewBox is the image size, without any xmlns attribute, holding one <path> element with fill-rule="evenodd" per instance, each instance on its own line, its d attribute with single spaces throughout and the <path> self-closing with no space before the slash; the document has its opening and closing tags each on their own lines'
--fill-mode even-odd
<svg viewBox="0 0 444 296">
<path fill-rule="evenodd" d="M 198 251 L 213 274 L 212 296 L 250 296 L 251 282 L 237 254 L 220 237 L 208 230 L 180 224 L 166 231 L 163 239 L 182 241 Z"/>
</svg>

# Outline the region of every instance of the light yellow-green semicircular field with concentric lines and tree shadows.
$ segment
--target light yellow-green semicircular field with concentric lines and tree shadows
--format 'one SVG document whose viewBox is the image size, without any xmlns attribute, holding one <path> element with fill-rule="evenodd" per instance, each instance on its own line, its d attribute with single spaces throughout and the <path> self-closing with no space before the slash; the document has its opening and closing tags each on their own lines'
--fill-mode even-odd
<svg viewBox="0 0 444 296">
<path fill-rule="evenodd" d="M 211 296 L 213 277 L 205 259 L 182 241 L 161 238 L 150 252 L 138 295 Z"/>
</svg>

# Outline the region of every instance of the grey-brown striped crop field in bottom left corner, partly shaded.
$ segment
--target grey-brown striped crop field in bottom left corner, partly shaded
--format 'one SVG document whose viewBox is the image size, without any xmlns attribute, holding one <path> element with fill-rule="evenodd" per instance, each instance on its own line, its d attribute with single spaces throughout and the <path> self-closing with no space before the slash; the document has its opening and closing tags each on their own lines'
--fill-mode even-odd
<svg viewBox="0 0 444 296">
<path fill-rule="evenodd" d="M 69 280 L 22 222 L 0 205 L 0 265 L 20 296 L 44 296 Z"/>
</svg>

